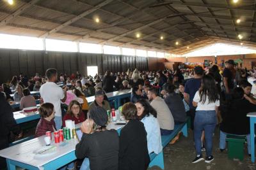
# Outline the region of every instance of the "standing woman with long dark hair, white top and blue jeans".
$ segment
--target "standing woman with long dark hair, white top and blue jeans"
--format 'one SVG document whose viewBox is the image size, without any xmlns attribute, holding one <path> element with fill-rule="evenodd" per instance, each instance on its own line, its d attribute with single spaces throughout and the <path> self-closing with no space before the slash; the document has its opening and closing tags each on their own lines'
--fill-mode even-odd
<svg viewBox="0 0 256 170">
<path fill-rule="evenodd" d="M 216 113 L 220 106 L 220 96 L 214 78 L 205 75 L 202 78 L 200 89 L 196 92 L 193 99 L 193 106 L 196 107 L 194 121 L 194 138 L 196 148 L 196 158 L 192 163 L 204 160 L 202 157 L 202 132 L 205 132 L 205 162 L 210 163 L 214 160 L 212 156 L 212 135 L 216 126 Z"/>
</svg>

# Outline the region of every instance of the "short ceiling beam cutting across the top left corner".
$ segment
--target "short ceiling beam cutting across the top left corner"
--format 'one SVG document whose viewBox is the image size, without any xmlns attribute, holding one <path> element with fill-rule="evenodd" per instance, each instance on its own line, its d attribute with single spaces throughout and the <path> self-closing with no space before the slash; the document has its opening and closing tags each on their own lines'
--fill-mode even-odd
<svg viewBox="0 0 256 170">
<path fill-rule="evenodd" d="M 30 8 L 33 4 L 37 3 L 38 1 L 40 1 L 40 0 L 32 0 L 29 3 L 24 4 L 18 10 L 16 10 L 14 13 L 12 13 L 12 14 L 8 15 L 6 18 L 4 18 L 0 22 L 0 26 L 8 24 L 13 18 L 19 16 L 20 13 L 23 13 L 24 11 L 28 10 L 28 8 Z"/>
</svg>

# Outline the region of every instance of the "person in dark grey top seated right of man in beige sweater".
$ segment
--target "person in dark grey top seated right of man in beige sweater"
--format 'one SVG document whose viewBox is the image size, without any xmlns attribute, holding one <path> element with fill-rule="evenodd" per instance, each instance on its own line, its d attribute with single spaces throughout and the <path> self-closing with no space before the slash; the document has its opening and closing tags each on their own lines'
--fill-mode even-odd
<svg viewBox="0 0 256 170">
<path fill-rule="evenodd" d="M 168 85 L 166 87 L 167 97 L 164 101 L 167 104 L 168 108 L 172 112 L 172 116 L 175 124 L 182 124 L 186 122 L 186 110 L 184 103 L 179 94 L 175 93 L 175 85 Z"/>
</svg>

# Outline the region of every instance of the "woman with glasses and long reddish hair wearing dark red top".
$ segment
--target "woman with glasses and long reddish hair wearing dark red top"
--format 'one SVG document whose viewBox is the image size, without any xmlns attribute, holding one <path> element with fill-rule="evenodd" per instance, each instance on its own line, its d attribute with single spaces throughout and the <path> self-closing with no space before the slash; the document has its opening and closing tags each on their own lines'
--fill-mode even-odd
<svg viewBox="0 0 256 170">
<path fill-rule="evenodd" d="M 82 106 L 78 101 L 74 100 L 69 103 L 67 113 L 63 117 L 62 127 L 66 126 L 65 120 L 75 121 L 75 124 L 84 122 L 84 113 L 82 111 Z"/>
</svg>

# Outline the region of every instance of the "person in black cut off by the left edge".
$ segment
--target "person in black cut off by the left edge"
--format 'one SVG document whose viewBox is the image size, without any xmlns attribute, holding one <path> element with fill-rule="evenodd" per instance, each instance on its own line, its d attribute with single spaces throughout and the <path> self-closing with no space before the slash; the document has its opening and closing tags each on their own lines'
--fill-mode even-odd
<svg viewBox="0 0 256 170">
<path fill-rule="evenodd" d="M 0 150 L 9 147 L 10 132 L 22 137 L 19 125 L 13 118 L 12 107 L 6 101 L 4 93 L 0 92 Z M 0 157 L 0 169 L 6 167 L 6 159 Z"/>
</svg>

